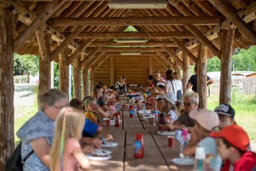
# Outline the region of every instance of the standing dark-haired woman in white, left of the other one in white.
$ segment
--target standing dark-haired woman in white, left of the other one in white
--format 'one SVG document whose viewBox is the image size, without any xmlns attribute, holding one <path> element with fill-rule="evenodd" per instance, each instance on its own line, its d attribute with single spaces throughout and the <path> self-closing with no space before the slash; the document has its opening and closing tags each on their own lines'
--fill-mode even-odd
<svg viewBox="0 0 256 171">
<path fill-rule="evenodd" d="M 173 71 L 167 70 L 165 72 L 166 75 L 166 81 L 164 83 L 165 87 L 165 93 L 173 93 L 175 96 L 177 96 L 177 85 L 176 81 L 174 79 Z"/>
</svg>

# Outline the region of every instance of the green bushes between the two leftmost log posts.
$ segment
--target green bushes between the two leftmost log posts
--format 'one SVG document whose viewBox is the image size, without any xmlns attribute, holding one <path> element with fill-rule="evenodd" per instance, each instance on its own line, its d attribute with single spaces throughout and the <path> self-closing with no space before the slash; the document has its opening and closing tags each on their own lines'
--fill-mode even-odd
<svg viewBox="0 0 256 171">
<path fill-rule="evenodd" d="M 13 54 L 13 70 L 14 75 L 22 75 L 23 72 L 31 73 L 33 76 L 39 70 L 39 58 L 35 55 L 19 55 Z"/>
</svg>

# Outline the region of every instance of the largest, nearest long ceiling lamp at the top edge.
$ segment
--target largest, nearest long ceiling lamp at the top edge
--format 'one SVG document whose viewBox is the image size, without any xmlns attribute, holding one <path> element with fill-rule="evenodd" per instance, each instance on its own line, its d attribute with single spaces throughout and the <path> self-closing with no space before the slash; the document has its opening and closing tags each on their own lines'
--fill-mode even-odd
<svg viewBox="0 0 256 171">
<path fill-rule="evenodd" d="M 136 0 L 136 1 L 118 1 L 113 0 L 110 1 L 109 7 L 111 9 L 163 9 L 166 8 L 167 2 L 166 1 L 143 1 L 143 0 Z"/>
</svg>

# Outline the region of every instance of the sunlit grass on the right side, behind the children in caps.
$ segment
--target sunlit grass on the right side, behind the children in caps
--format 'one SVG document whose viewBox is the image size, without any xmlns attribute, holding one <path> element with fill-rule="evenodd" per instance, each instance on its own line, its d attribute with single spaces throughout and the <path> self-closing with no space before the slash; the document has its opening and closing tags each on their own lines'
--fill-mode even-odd
<svg viewBox="0 0 256 171">
<path fill-rule="evenodd" d="M 207 99 L 207 108 L 214 110 L 219 105 L 219 95 L 211 95 Z M 256 94 L 244 95 L 237 92 L 231 94 L 231 106 L 236 111 L 234 119 L 242 126 L 250 139 L 256 142 Z"/>
</svg>

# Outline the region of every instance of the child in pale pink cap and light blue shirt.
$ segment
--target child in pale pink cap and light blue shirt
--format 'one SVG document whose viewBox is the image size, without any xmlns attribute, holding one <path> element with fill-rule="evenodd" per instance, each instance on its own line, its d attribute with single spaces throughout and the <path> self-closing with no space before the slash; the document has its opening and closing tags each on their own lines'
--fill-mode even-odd
<svg viewBox="0 0 256 171">
<path fill-rule="evenodd" d="M 194 110 L 189 113 L 189 117 L 195 120 L 195 130 L 191 133 L 191 139 L 184 149 L 184 156 L 194 155 L 198 146 L 204 147 L 208 169 L 220 170 L 221 158 L 217 152 L 217 145 L 214 138 L 209 134 L 218 129 L 219 117 L 216 112 L 209 110 Z"/>
</svg>

